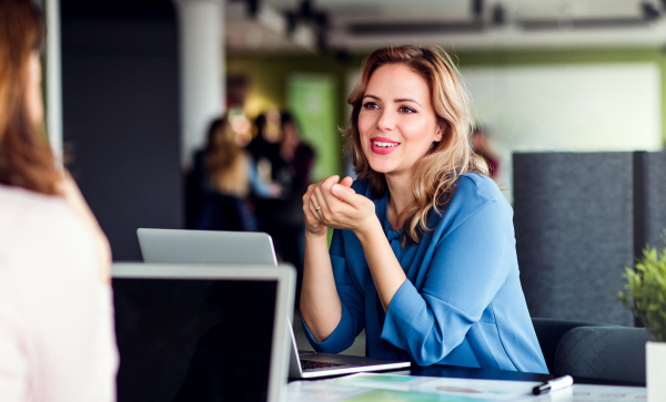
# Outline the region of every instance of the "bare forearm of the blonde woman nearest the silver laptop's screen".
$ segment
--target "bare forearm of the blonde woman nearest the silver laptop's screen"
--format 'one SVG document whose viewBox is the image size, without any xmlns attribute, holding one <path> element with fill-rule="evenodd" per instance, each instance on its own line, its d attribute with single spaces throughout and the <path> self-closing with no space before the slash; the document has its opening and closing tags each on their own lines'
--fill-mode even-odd
<svg viewBox="0 0 666 402">
<path fill-rule="evenodd" d="M 342 318 L 326 235 L 305 235 L 301 316 L 317 342 L 325 341 Z"/>
</svg>

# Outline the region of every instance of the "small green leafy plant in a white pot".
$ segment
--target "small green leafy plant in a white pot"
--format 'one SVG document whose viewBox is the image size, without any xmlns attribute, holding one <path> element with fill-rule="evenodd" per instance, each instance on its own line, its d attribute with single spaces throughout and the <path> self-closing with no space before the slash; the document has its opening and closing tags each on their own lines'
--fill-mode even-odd
<svg viewBox="0 0 666 402">
<path fill-rule="evenodd" d="M 645 344 L 647 400 L 666 401 L 666 248 L 657 251 L 647 246 L 635 268 L 625 268 L 623 277 L 627 282 L 619 301 L 653 339 Z"/>
</svg>

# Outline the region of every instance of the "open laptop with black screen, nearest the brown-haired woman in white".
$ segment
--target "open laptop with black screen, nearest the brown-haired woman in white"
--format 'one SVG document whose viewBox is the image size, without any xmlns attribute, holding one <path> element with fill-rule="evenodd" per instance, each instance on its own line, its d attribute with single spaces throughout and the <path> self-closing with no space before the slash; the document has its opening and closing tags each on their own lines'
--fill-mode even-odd
<svg viewBox="0 0 666 402">
<path fill-rule="evenodd" d="M 118 401 L 284 400 L 291 266 L 114 264 Z"/>
</svg>

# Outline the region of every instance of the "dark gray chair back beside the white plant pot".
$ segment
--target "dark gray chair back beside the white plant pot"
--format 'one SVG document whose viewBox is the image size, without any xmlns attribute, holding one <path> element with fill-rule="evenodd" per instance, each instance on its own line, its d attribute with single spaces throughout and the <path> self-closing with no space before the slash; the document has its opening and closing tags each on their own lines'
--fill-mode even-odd
<svg viewBox="0 0 666 402">
<path fill-rule="evenodd" d="M 577 327 L 555 351 L 554 375 L 630 382 L 645 385 L 645 328 Z"/>
</svg>

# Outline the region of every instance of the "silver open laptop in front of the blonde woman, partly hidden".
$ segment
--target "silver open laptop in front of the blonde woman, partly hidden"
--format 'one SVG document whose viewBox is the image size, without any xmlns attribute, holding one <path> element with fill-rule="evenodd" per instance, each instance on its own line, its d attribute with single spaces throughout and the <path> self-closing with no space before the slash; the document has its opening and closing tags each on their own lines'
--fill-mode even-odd
<svg viewBox="0 0 666 402">
<path fill-rule="evenodd" d="M 273 241 L 264 233 L 175 229 L 139 229 L 137 233 L 144 262 L 276 265 Z M 291 322 L 286 327 L 291 350 L 290 379 L 395 370 L 412 365 L 408 361 L 301 352 L 296 348 Z"/>
</svg>

